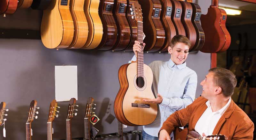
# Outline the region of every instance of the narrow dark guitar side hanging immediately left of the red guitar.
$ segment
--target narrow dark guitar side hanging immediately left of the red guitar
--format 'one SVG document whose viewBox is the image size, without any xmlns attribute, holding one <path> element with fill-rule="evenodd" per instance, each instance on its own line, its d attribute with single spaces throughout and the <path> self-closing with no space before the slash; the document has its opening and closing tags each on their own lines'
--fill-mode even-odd
<svg viewBox="0 0 256 140">
<path fill-rule="evenodd" d="M 200 24 L 201 8 L 198 4 L 190 3 L 193 8 L 192 23 L 196 30 L 196 43 L 191 51 L 199 51 L 204 45 L 204 30 Z"/>
</svg>

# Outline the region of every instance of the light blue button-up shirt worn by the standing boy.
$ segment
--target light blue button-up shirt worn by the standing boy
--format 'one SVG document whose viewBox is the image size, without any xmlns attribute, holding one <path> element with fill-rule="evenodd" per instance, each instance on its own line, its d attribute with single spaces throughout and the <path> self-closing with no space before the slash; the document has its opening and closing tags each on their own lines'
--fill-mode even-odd
<svg viewBox="0 0 256 140">
<path fill-rule="evenodd" d="M 131 61 L 136 61 L 135 55 Z M 131 63 L 129 61 L 129 63 Z M 197 75 L 186 66 L 186 62 L 176 65 L 170 59 L 168 62 L 153 61 L 148 65 L 153 71 L 152 91 L 163 96 L 159 104 L 156 120 L 143 130 L 151 136 L 158 136 L 158 131 L 164 121 L 176 110 L 186 108 L 196 95 Z"/>
</svg>

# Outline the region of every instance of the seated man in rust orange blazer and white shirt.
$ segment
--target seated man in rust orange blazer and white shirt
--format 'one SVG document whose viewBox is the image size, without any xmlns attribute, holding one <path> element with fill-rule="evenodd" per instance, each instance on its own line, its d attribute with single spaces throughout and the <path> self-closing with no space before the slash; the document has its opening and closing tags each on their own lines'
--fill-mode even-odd
<svg viewBox="0 0 256 140">
<path fill-rule="evenodd" d="M 169 134 L 174 128 L 187 123 L 189 130 L 201 136 L 222 134 L 228 140 L 252 140 L 252 121 L 231 99 L 236 76 L 230 70 L 213 68 L 200 85 L 203 86 L 202 97 L 168 117 L 159 131 L 159 140 L 170 140 Z"/>
</svg>

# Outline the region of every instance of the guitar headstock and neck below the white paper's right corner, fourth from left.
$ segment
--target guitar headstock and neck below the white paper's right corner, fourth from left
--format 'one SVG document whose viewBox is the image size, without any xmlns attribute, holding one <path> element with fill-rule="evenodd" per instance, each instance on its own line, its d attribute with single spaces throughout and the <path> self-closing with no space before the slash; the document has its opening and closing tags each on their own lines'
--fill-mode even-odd
<svg viewBox="0 0 256 140">
<path fill-rule="evenodd" d="M 67 115 L 67 119 L 66 119 L 67 140 L 72 140 L 71 120 L 74 117 L 74 115 L 75 116 L 77 115 L 77 113 L 74 113 L 75 110 L 77 111 L 77 109 L 75 109 L 75 106 L 78 107 L 78 105 L 76 105 L 76 99 L 71 98 L 68 103 L 68 115 Z"/>
</svg>

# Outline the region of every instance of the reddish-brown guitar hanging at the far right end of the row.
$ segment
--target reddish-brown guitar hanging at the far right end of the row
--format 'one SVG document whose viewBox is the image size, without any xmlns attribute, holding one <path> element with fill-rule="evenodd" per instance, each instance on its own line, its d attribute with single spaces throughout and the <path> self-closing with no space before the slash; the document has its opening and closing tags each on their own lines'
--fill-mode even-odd
<svg viewBox="0 0 256 140">
<path fill-rule="evenodd" d="M 227 14 L 225 10 L 218 7 L 219 0 L 212 0 L 212 5 L 208 8 L 207 14 L 201 17 L 205 42 L 200 51 L 204 53 L 226 51 L 231 42 L 230 34 L 225 26 Z"/>
</svg>

